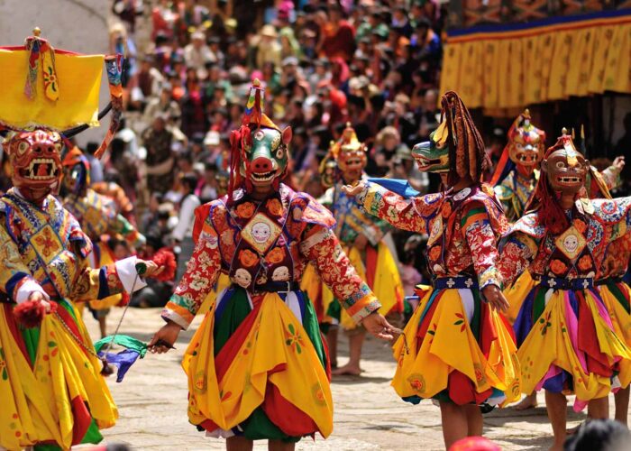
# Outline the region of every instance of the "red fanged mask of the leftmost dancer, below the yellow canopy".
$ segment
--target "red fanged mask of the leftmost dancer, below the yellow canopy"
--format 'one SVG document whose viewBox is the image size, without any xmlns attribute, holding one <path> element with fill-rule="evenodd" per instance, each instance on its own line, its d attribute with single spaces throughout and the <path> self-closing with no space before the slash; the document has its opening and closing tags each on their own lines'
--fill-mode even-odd
<svg viewBox="0 0 631 451">
<path fill-rule="evenodd" d="M 4 147 L 13 171 L 11 181 L 24 198 L 38 203 L 59 192 L 62 178 L 59 133 L 48 130 L 14 133 Z"/>
</svg>

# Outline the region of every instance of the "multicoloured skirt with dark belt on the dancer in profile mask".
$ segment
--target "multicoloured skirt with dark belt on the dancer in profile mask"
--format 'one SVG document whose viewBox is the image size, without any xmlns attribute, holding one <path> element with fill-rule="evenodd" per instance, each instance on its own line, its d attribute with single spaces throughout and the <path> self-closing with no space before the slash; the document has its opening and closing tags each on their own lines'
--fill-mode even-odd
<svg viewBox="0 0 631 451">
<path fill-rule="evenodd" d="M 392 386 L 403 400 L 495 406 L 519 399 L 510 327 L 474 285 L 469 277 L 439 279 L 419 302 L 393 346 Z"/>
</svg>

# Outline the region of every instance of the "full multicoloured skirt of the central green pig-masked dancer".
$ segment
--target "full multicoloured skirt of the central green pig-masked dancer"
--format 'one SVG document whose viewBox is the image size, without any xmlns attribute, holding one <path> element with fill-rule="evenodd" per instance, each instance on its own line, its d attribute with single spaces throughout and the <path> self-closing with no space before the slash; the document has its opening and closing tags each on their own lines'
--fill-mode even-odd
<svg viewBox="0 0 631 451">
<path fill-rule="evenodd" d="M 182 362 L 188 419 L 211 437 L 295 442 L 333 430 L 330 367 L 315 310 L 300 291 L 224 290 Z"/>
</svg>

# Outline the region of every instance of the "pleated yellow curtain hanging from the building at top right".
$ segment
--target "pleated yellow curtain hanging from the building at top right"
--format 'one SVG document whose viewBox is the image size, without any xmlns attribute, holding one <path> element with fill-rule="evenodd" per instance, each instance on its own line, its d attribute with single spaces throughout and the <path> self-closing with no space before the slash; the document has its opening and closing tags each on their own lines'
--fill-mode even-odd
<svg viewBox="0 0 631 451">
<path fill-rule="evenodd" d="M 472 32 L 447 40 L 441 92 L 488 110 L 631 93 L 631 16 L 518 32 Z"/>
</svg>

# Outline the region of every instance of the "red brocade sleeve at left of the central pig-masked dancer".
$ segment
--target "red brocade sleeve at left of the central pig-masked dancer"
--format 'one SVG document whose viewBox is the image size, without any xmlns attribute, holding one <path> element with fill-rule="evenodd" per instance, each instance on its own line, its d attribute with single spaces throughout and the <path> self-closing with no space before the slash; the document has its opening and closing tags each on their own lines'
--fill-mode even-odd
<svg viewBox="0 0 631 451">
<path fill-rule="evenodd" d="M 162 318 L 170 319 L 184 329 L 190 325 L 221 271 L 218 244 L 215 229 L 206 220 L 193 256 L 187 263 L 187 271 L 162 310 Z"/>
</svg>

